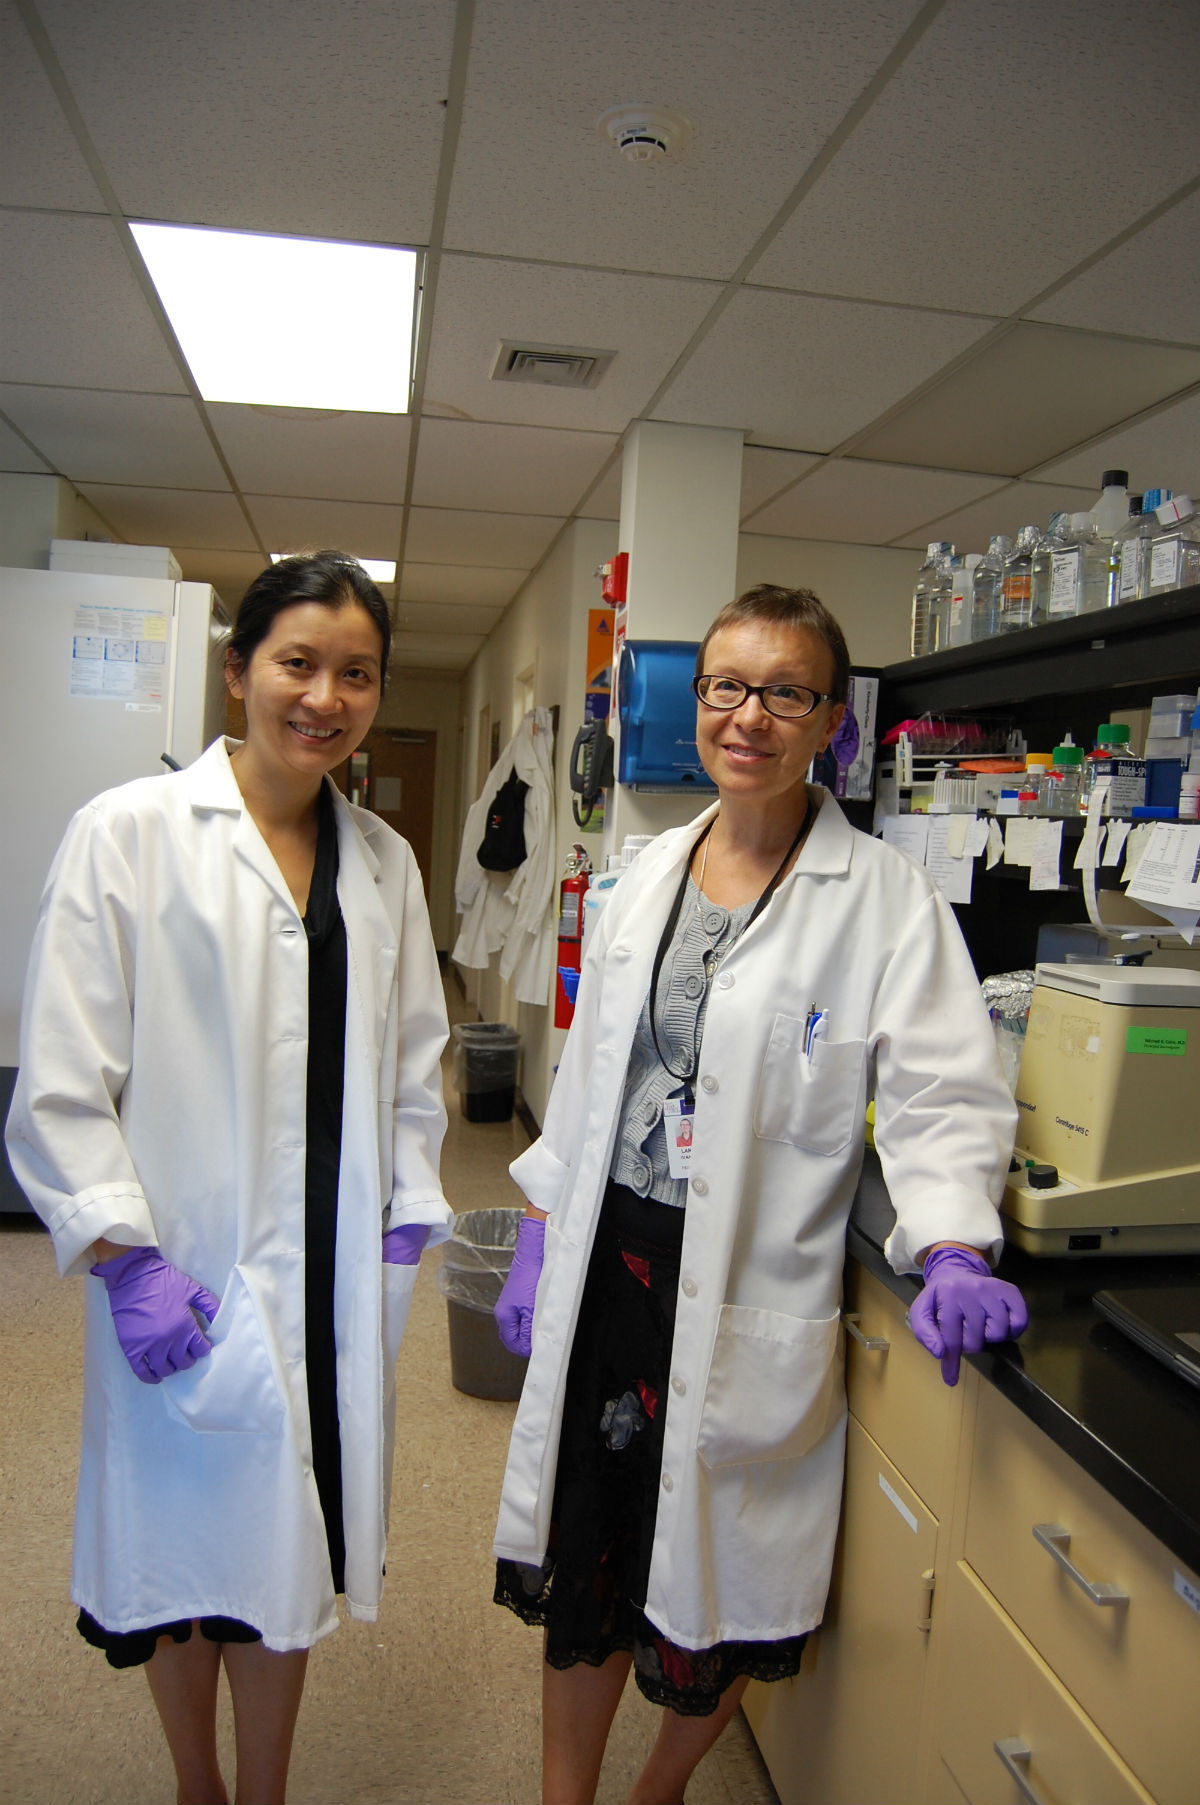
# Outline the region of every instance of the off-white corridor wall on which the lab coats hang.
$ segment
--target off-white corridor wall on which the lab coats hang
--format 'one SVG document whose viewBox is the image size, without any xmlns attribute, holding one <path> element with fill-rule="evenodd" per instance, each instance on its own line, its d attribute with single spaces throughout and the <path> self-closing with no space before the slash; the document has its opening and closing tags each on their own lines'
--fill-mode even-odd
<svg viewBox="0 0 1200 1805">
<path fill-rule="evenodd" d="M 603 520 L 577 520 L 505 610 L 462 682 L 462 792 L 458 832 L 475 800 L 480 711 L 500 722 L 500 744 L 512 729 L 518 708 L 518 677 L 532 668 L 532 702 L 559 709 L 559 744 L 554 749 L 558 859 L 561 865 L 577 828 L 570 812 L 568 762 L 576 729 L 583 722 L 586 682 L 588 608 L 599 606 L 595 567 L 617 549 L 617 527 Z M 595 843 L 599 845 L 599 841 Z M 552 1025 L 552 1005 L 516 1004 L 494 971 L 464 973 L 467 998 L 485 1022 L 511 1022 L 522 1031 L 522 1090 L 541 1121 L 554 1065 L 565 1034 Z"/>
</svg>

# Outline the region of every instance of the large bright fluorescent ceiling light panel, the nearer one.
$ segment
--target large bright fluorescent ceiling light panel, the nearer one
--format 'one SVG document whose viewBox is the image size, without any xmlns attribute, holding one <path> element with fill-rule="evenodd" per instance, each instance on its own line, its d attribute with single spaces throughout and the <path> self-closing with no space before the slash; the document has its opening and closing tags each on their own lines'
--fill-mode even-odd
<svg viewBox="0 0 1200 1805">
<path fill-rule="evenodd" d="M 206 401 L 408 413 L 415 251 L 130 229 Z"/>
</svg>

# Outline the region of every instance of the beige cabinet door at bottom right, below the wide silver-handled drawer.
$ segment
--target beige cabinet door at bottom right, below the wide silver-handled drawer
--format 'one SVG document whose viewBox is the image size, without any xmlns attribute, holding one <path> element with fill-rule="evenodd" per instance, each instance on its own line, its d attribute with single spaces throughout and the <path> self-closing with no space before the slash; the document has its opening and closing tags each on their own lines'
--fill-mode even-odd
<svg viewBox="0 0 1200 1805">
<path fill-rule="evenodd" d="M 971 1805 L 1153 1805 L 965 1563 L 938 1610 L 938 1753 Z"/>
</svg>

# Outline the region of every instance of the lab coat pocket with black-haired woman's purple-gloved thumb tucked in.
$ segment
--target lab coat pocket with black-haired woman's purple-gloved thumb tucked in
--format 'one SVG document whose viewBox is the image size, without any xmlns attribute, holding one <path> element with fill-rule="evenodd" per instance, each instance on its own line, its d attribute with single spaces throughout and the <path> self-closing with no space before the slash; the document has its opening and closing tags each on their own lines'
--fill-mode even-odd
<svg viewBox="0 0 1200 1805">
<path fill-rule="evenodd" d="M 211 1354 L 162 1381 L 170 1415 L 200 1433 L 276 1433 L 283 1422 L 283 1399 L 258 1307 L 236 1265 L 208 1338 Z"/>
</svg>

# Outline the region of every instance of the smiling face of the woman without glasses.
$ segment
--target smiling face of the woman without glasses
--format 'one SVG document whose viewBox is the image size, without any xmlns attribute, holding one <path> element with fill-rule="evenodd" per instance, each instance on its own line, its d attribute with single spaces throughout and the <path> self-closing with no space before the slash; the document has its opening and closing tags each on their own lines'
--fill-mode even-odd
<svg viewBox="0 0 1200 1805">
<path fill-rule="evenodd" d="M 245 704 L 245 751 L 263 776 L 323 778 L 361 745 L 381 693 L 383 643 L 366 608 L 283 608 L 247 664 L 229 661 Z"/>
</svg>

